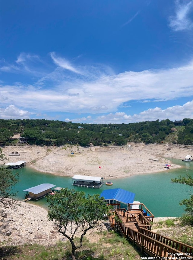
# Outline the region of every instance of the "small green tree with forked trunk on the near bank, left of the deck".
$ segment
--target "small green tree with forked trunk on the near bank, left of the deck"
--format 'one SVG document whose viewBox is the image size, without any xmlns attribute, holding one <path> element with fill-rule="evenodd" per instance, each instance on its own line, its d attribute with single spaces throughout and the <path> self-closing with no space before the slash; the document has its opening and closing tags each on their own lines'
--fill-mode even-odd
<svg viewBox="0 0 193 260">
<path fill-rule="evenodd" d="M 75 250 L 82 246 L 84 235 L 89 229 L 101 226 L 101 220 L 109 214 L 109 208 L 99 194 L 85 196 L 83 191 L 62 189 L 54 196 L 48 196 L 48 218 L 54 220 L 63 236 L 68 238 L 72 246 L 72 259 L 75 259 Z M 74 236 L 81 231 L 78 245 L 75 245 Z"/>
</svg>

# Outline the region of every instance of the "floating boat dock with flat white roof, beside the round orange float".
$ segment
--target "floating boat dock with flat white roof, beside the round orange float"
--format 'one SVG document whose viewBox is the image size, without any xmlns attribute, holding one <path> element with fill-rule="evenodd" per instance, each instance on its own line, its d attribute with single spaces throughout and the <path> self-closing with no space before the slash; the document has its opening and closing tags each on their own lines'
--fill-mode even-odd
<svg viewBox="0 0 193 260">
<path fill-rule="evenodd" d="M 86 175 L 74 175 L 72 177 L 74 186 L 86 188 L 100 188 L 103 185 L 103 177 L 94 177 Z"/>
</svg>

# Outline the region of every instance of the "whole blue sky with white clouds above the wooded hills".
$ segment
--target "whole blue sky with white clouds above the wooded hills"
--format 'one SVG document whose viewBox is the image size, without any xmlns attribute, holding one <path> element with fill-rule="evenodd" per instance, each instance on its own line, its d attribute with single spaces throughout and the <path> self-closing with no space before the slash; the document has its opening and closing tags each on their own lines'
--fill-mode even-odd
<svg viewBox="0 0 193 260">
<path fill-rule="evenodd" d="M 0 118 L 193 118 L 193 0 L 6 0 Z"/>
</svg>

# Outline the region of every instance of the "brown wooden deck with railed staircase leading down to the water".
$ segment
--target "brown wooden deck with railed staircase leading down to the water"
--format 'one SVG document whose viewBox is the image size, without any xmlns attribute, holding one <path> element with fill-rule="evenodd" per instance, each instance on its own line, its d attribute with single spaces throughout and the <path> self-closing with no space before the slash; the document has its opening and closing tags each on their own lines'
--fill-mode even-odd
<svg viewBox="0 0 193 260">
<path fill-rule="evenodd" d="M 141 252 L 156 259 L 193 259 L 192 246 L 151 231 L 154 216 L 144 204 L 138 210 L 132 210 L 131 207 L 129 205 L 128 210 L 112 210 L 112 215 L 109 216 L 111 227 L 137 245 Z"/>
</svg>

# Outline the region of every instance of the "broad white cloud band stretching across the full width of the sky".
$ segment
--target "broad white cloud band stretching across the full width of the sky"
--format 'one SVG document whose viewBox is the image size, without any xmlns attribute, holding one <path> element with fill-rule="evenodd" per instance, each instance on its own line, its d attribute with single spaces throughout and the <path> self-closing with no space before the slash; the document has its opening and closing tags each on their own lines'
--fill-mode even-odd
<svg viewBox="0 0 193 260">
<path fill-rule="evenodd" d="M 116 112 L 126 102 L 128 107 L 131 100 L 164 101 L 193 96 L 193 63 L 167 70 L 99 76 L 97 80 L 68 78 L 61 71 L 59 75 L 57 81 L 56 75 L 48 77 L 46 88 L 38 84 L 2 84 L 2 103 L 17 106 L 19 93 L 20 106 L 37 112 L 108 113 Z"/>
</svg>

